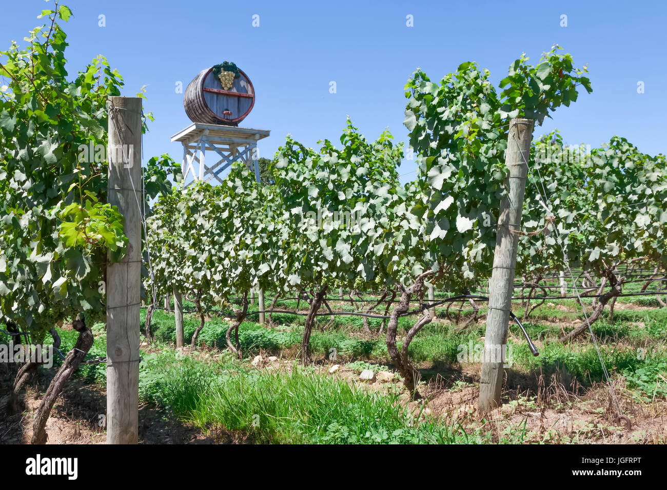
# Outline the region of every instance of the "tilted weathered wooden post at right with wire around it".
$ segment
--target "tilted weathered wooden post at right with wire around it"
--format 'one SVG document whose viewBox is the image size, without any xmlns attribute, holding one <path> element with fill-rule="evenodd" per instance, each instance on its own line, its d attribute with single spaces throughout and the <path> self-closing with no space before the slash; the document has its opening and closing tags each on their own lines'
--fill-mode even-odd
<svg viewBox="0 0 667 490">
<path fill-rule="evenodd" d="M 509 195 L 500 204 L 494 266 L 489 281 L 489 311 L 486 317 L 484 337 L 484 362 L 480 377 L 480 414 L 486 414 L 500 406 L 503 380 L 504 353 L 507 329 L 514 293 L 514 271 L 518 231 L 526 191 L 526 175 L 530 159 L 530 143 L 533 135 L 532 119 L 512 119 L 508 134 L 505 163 L 510 175 L 507 179 Z"/>
</svg>

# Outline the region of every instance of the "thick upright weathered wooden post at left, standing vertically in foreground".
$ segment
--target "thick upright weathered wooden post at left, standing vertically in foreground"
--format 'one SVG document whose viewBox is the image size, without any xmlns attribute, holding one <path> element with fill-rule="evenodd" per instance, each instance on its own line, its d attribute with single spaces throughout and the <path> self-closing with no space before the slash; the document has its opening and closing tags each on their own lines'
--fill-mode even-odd
<svg viewBox="0 0 667 490">
<path fill-rule="evenodd" d="M 107 444 L 139 437 L 141 99 L 111 97 L 109 203 L 125 217 L 127 253 L 107 263 Z"/>
</svg>

